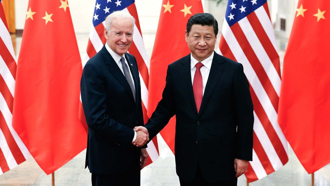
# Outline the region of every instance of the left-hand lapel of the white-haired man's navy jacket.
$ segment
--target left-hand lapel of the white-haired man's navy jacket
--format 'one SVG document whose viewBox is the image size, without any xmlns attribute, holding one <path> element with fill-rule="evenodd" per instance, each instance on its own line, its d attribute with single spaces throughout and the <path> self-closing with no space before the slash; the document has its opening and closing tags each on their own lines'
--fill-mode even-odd
<svg viewBox="0 0 330 186">
<path fill-rule="evenodd" d="M 105 48 L 105 46 L 103 46 L 103 48 L 101 49 L 101 53 L 102 53 L 105 64 L 110 66 L 109 67 L 110 72 L 116 77 L 116 79 L 121 83 L 121 85 L 127 90 L 128 94 L 131 96 L 131 98 L 134 101 L 132 89 L 129 86 L 128 81 L 126 80 L 125 75 L 119 69 L 114 58 L 112 58 L 111 54 L 108 52 L 108 50 Z"/>
</svg>

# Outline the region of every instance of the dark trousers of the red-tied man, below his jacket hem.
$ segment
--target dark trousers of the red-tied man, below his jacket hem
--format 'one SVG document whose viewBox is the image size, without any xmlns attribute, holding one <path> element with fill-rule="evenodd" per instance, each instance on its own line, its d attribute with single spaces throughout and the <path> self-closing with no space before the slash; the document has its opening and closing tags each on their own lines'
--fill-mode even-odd
<svg viewBox="0 0 330 186">
<path fill-rule="evenodd" d="M 197 171 L 194 179 L 191 181 L 184 181 L 180 177 L 180 185 L 181 186 L 237 186 L 237 178 L 233 178 L 228 181 L 220 181 L 220 182 L 207 182 L 201 173 L 201 169 L 199 168 L 199 164 L 197 165 Z"/>
</svg>

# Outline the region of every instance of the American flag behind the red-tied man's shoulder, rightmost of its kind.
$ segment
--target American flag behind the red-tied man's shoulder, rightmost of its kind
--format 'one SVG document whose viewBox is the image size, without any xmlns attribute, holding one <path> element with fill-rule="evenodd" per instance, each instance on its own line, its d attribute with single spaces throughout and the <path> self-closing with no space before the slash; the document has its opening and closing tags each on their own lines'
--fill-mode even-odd
<svg viewBox="0 0 330 186">
<path fill-rule="evenodd" d="M 254 106 L 253 161 L 249 182 L 288 161 L 288 144 L 277 122 L 280 58 L 266 0 L 229 0 L 218 53 L 244 66 Z"/>
</svg>

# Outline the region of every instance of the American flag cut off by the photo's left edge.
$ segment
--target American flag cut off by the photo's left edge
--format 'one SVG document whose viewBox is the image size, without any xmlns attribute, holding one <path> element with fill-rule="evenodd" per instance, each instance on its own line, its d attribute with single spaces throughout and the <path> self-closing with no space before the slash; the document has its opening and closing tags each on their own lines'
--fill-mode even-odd
<svg viewBox="0 0 330 186">
<path fill-rule="evenodd" d="M 0 0 L 0 174 L 30 157 L 12 126 L 15 77 L 16 57 Z"/>
</svg>

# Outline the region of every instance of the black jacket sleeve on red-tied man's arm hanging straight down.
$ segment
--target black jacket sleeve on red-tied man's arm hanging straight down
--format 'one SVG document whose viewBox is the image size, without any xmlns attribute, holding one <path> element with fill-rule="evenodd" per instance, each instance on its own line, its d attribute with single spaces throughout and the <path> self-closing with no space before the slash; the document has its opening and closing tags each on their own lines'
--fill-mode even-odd
<svg viewBox="0 0 330 186">
<path fill-rule="evenodd" d="M 252 161 L 253 103 L 243 65 L 238 63 L 233 85 L 234 108 L 237 123 L 237 159 Z"/>
</svg>

